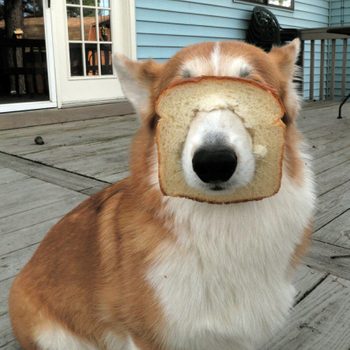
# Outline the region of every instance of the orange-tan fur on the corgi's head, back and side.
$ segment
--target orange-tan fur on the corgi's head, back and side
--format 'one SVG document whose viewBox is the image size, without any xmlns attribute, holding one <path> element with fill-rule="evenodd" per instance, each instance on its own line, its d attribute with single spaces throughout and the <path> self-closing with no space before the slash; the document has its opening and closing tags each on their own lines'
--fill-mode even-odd
<svg viewBox="0 0 350 350">
<path fill-rule="evenodd" d="M 165 240 L 171 241 L 173 233 L 158 215 L 162 195 L 149 180 L 155 147 L 150 121 L 159 93 L 182 79 L 182 63 L 190 57 L 208 58 L 213 45 L 186 48 L 164 65 L 127 62 L 140 84 L 148 86 L 151 96 L 132 145 L 131 175 L 66 215 L 16 278 L 9 299 L 10 316 L 24 349 L 36 349 L 35 336 L 52 323 L 101 349 L 101 339 L 109 331 L 120 337 L 131 335 L 141 350 L 163 349 L 158 336 L 162 310 L 145 273 L 156 248 Z M 222 50 L 232 57 L 244 56 L 256 68 L 250 78 L 271 86 L 284 102 L 290 119 L 287 171 L 295 181 L 302 181 L 296 151 L 299 134 L 294 126 L 297 110 L 288 90 L 294 68 L 284 60 L 293 48 L 274 49 L 268 55 L 244 43 L 225 42 Z M 303 250 L 304 244 L 295 254 Z"/>
</svg>

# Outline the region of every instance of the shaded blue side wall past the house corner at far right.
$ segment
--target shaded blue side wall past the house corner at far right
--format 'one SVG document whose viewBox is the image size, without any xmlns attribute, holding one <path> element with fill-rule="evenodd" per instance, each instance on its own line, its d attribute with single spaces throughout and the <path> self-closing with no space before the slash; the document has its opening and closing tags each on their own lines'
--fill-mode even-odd
<svg viewBox="0 0 350 350">
<path fill-rule="evenodd" d="M 330 0 L 330 25 L 339 27 L 350 25 L 350 1 Z M 350 92 L 350 38 L 347 40 L 347 75 L 346 92 Z M 343 62 L 343 42 L 336 42 L 336 76 L 335 76 L 335 96 L 341 98 L 342 62 Z"/>
</svg>

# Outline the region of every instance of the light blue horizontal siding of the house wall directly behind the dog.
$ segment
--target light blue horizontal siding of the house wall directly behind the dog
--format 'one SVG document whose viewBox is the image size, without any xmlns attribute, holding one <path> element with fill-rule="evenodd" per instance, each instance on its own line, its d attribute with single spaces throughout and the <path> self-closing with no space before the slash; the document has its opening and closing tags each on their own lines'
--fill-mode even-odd
<svg viewBox="0 0 350 350">
<path fill-rule="evenodd" d="M 330 0 L 295 0 L 294 11 L 269 9 L 282 27 L 325 27 Z M 137 56 L 160 61 L 201 41 L 244 40 L 254 4 L 232 0 L 136 0 Z M 318 47 L 316 47 L 319 50 Z M 309 44 L 305 47 L 304 95 L 309 93 Z M 320 60 L 316 55 L 316 81 Z"/>
</svg>

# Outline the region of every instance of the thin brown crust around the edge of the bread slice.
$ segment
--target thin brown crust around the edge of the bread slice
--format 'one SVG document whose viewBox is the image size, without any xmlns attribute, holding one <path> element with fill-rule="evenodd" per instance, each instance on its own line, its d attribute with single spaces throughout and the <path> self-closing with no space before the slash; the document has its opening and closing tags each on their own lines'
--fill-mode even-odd
<svg viewBox="0 0 350 350">
<path fill-rule="evenodd" d="M 160 121 L 162 119 L 162 115 L 161 113 L 159 113 L 159 109 L 160 109 L 160 101 L 162 98 L 166 97 L 166 95 L 168 93 L 170 93 L 172 91 L 172 89 L 177 88 L 177 87 L 181 87 L 181 86 L 186 86 L 186 85 L 193 85 L 193 84 L 198 84 L 201 82 L 214 82 L 214 83 L 227 83 L 227 82 L 239 82 L 240 84 L 248 84 L 250 86 L 254 86 L 257 87 L 261 90 L 263 90 L 264 92 L 268 92 L 269 94 L 271 94 L 271 96 L 274 98 L 275 101 L 278 102 L 278 105 L 280 107 L 280 113 L 279 115 L 272 120 L 272 123 L 270 125 L 275 125 L 276 127 L 280 127 L 281 130 L 283 131 L 283 139 L 285 139 L 286 136 L 286 125 L 283 123 L 282 118 L 285 115 L 285 107 L 280 99 L 280 97 L 277 95 L 276 91 L 271 88 L 270 86 L 264 85 L 262 83 L 259 83 L 257 81 L 253 81 L 253 80 L 248 80 L 248 79 L 244 79 L 244 78 L 238 78 L 238 77 L 218 77 L 218 76 L 201 76 L 201 77 L 195 77 L 195 78 L 190 78 L 190 79 L 186 79 L 186 80 L 179 80 L 179 81 L 175 81 L 174 83 L 170 84 L 167 88 L 165 88 L 158 96 L 157 100 L 156 100 L 156 104 L 155 104 L 155 110 L 157 115 L 160 118 Z M 160 185 L 160 189 L 161 192 L 166 195 L 169 196 L 169 193 L 167 193 L 166 189 L 164 188 L 164 184 L 161 178 L 161 167 L 162 167 L 162 162 L 161 162 L 161 147 L 160 147 L 160 127 L 159 127 L 160 123 L 158 123 L 157 129 L 156 129 L 156 143 L 157 143 L 157 152 L 158 152 L 158 181 L 159 181 L 159 185 Z M 283 157 L 284 157 L 284 151 L 285 151 L 285 145 L 284 143 L 281 145 L 281 153 L 280 153 L 280 157 L 278 160 L 278 183 L 276 184 L 276 187 L 274 188 L 274 190 L 269 194 L 269 195 L 264 195 L 264 196 L 252 196 L 252 198 L 245 198 L 245 199 L 229 199 L 229 200 L 225 200 L 225 199 L 219 199 L 219 198 L 211 198 L 211 196 L 207 196 L 205 194 L 203 194 L 202 198 L 199 196 L 196 196 L 194 193 L 191 193 L 189 195 L 186 195 L 184 193 L 182 193 L 181 191 L 174 191 L 171 193 L 171 196 L 174 197 L 181 197 L 181 198 L 187 198 L 187 199 L 192 199 L 192 200 L 196 200 L 198 202 L 206 202 L 206 203 L 211 203 L 211 204 L 231 204 L 231 203 L 242 203 L 242 202 L 248 202 L 248 201 L 258 201 L 258 200 L 262 200 L 264 198 L 268 198 L 271 197 L 273 195 L 275 195 L 281 186 L 281 180 L 282 180 L 282 163 L 283 163 Z M 185 181 L 185 180 L 184 180 Z M 219 196 L 220 197 L 220 196 Z"/>
</svg>

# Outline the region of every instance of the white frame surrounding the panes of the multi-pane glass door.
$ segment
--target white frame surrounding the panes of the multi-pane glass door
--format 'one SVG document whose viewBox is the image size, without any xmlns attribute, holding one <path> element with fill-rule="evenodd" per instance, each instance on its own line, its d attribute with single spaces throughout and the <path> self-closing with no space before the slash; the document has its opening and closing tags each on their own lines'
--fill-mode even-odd
<svg viewBox="0 0 350 350">
<path fill-rule="evenodd" d="M 112 75 L 70 76 L 66 2 L 66 0 L 60 0 L 52 3 L 52 11 L 56 14 L 53 17 L 55 59 L 60 62 L 55 66 L 58 108 L 125 100 L 114 66 Z M 112 53 L 119 52 L 136 59 L 135 0 L 110 0 L 110 8 Z"/>
</svg>

